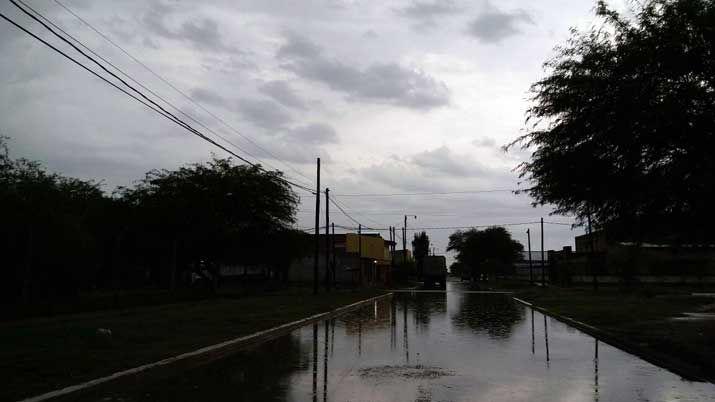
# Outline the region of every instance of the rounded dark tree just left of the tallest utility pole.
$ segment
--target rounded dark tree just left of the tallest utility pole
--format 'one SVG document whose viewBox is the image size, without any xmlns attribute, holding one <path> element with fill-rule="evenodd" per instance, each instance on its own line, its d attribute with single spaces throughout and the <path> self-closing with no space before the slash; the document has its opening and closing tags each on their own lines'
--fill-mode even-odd
<svg viewBox="0 0 715 402">
<path fill-rule="evenodd" d="M 133 211 L 137 247 L 150 255 L 157 247 L 165 255 L 178 250 L 180 255 L 171 258 L 178 262 L 169 267 L 171 278 L 176 270 L 191 270 L 213 288 L 221 264 L 273 263 L 282 272 L 285 259 L 296 252 L 279 243 L 296 238 L 286 232 L 298 203 L 280 172 L 214 158 L 173 171 L 150 171 L 119 194 Z"/>
</svg>

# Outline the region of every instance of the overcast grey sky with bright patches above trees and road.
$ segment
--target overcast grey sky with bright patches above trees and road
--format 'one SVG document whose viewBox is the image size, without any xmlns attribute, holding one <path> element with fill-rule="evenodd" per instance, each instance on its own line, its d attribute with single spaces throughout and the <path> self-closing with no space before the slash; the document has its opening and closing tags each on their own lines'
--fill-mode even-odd
<svg viewBox="0 0 715 402">
<path fill-rule="evenodd" d="M 529 152 L 501 146 L 523 133 L 529 86 L 570 27 L 598 23 L 594 0 L 60 0 L 248 141 L 58 4 L 26 1 L 237 153 L 300 182 L 308 180 L 296 171 L 314 181 L 321 157 L 323 187 L 334 194 L 517 188 L 513 169 Z M 0 11 L 50 38 L 12 4 Z M 150 169 L 225 155 L 5 21 L 0 51 L 0 134 L 11 137 L 14 156 L 104 180 L 111 191 Z M 368 226 L 401 226 L 403 214 L 418 216 L 412 227 L 571 222 L 509 192 L 339 200 Z M 302 197 L 299 227 L 311 226 L 313 210 L 314 199 Z M 509 229 L 525 244 L 527 227 Z M 539 249 L 538 225 L 531 228 Z M 583 233 L 545 230 L 547 249 Z M 428 232 L 443 252 L 451 232 Z"/>
</svg>

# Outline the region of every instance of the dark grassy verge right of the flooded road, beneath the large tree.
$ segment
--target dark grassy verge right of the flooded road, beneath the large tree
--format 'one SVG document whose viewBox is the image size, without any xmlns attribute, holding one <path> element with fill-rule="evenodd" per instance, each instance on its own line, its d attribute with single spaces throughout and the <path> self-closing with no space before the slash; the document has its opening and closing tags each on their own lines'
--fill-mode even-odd
<svg viewBox="0 0 715 402">
<path fill-rule="evenodd" d="M 595 326 L 671 367 L 715 381 L 715 321 L 673 320 L 685 312 L 715 312 L 713 298 L 693 297 L 687 289 L 672 288 L 514 290 L 516 297 Z"/>
</svg>

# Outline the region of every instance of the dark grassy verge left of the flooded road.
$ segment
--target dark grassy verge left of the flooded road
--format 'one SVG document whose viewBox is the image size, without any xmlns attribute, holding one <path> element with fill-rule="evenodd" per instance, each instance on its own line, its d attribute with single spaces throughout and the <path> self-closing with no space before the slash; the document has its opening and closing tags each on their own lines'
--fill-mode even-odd
<svg viewBox="0 0 715 402">
<path fill-rule="evenodd" d="M 380 294 L 292 288 L 241 298 L 0 324 L 0 400 L 16 400 L 174 356 Z M 111 338 L 97 334 L 112 331 Z"/>
</svg>

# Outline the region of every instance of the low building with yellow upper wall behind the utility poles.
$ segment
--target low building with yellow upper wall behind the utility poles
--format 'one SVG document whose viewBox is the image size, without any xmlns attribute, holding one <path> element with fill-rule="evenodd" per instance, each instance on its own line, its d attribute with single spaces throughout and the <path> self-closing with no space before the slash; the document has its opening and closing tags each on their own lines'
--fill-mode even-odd
<svg viewBox="0 0 715 402">
<path fill-rule="evenodd" d="M 321 234 L 318 239 L 320 244 L 318 279 L 321 283 L 325 281 L 327 267 L 331 281 L 338 285 L 388 286 L 390 284 L 392 273 L 390 249 L 394 242 L 383 239 L 379 233 Z M 289 279 L 310 282 L 313 280 L 313 270 L 311 254 L 291 264 Z"/>
</svg>

